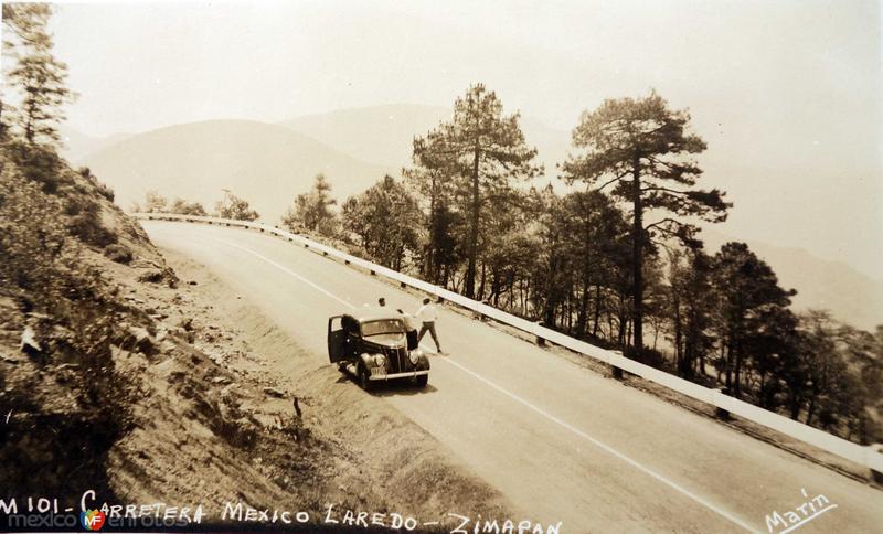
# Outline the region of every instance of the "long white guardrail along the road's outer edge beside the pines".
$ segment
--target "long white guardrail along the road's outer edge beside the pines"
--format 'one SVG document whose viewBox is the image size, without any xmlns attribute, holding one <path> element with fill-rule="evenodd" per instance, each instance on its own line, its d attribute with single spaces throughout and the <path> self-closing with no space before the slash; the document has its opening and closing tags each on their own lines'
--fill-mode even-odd
<svg viewBox="0 0 883 534">
<path fill-rule="evenodd" d="M 838 438 L 837 436 L 832 436 L 826 431 L 804 425 L 802 423 L 798 423 L 794 419 L 789 419 L 728 395 L 724 395 L 720 391 L 700 386 L 699 384 L 685 381 L 672 374 L 666 373 L 664 371 L 659 371 L 649 365 L 629 360 L 615 352 L 600 349 L 584 341 L 564 335 L 561 332 L 550 330 L 536 322 L 528 321 L 482 302 L 468 299 L 462 295 L 455 293 L 448 289 L 407 275 L 403 275 L 402 273 L 392 270 L 390 268 L 365 261 L 362 258 L 342 253 L 336 248 L 331 248 L 322 245 L 321 243 L 308 239 L 301 235 L 292 234 L 285 229 L 269 226 L 267 224 L 252 223 L 247 221 L 202 217 L 194 215 L 177 215 L 168 213 L 132 213 L 130 215 L 136 218 L 143 220 L 183 221 L 189 223 L 199 222 L 225 226 L 238 226 L 274 234 L 288 239 L 289 242 L 298 243 L 307 248 L 320 252 L 323 256 L 342 259 L 347 264 L 362 267 L 370 270 L 372 274 L 381 275 L 392 280 L 396 280 L 400 284 L 419 289 L 421 291 L 435 295 L 436 297 L 440 297 L 447 301 L 456 303 L 457 306 L 470 309 L 481 313 L 482 316 L 487 316 L 503 324 L 509 324 L 510 327 L 529 332 L 539 339 L 550 341 L 561 346 L 566 346 L 572 351 L 591 356 L 595 360 L 609 364 L 613 367 L 621 369 L 631 374 L 640 376 L 643 380 L 655 382 L 682 395 L 687 395 L 688 397 L 695 398 L 696 400 L 701 400 L 720 409 L 724 409 L 731 414 L 738 415 L 740 417 L 752 420 L 767 428 L 772 428 L 773 430 L 779 431 L 786 436 L 790 436 L 791 438 L 799 439 L 822 450 L 827 450 L 828 452 L 832 452 L 841 458 L 845 458 L 847 460 L 873 469 L 874 471 L 883 472 L 883 455 L 874 450 L 873 447 L 863 447 L 853 444 L 852 441 L 847 441 L 845 439 Z"/>
</svg>

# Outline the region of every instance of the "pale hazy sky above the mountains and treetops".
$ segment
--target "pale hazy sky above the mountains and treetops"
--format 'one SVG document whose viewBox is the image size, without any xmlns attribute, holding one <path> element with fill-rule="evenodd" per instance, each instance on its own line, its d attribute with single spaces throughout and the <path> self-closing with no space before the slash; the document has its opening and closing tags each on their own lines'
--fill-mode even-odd
<svg viewBox="0 0 883 534">
<path fill-rule="evenodd" d="M 875 1 L 65 3 L 53 29 L 70 126 L 95 136 L 450 106 L 478 81 L 570 130 L 656 88 L 709 142 L 704 180 L 736 204 L 722 229 L 883 278 Z"/>
</svg>

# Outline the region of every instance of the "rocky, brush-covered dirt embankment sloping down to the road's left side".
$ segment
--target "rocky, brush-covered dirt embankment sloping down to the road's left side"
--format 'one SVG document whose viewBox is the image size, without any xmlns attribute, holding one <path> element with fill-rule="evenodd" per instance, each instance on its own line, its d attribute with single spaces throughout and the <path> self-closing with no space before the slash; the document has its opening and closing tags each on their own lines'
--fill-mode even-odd
<svg viewBox="0 0 883 534">
<path fill-rule="evenodd" d="M 202 527 L 245 530 L 341 530 L 352 511 L 358 532 L 394 514 L 447 532 L 448 512 L 506 515 L 382 399 L 340 387 L 200 266 L 170 268 L 88 172 L 3 163 L 0 499 L 78 512 L 95 490 L 89 508 L 192 520 L 202 505 Z"/>
</svg>

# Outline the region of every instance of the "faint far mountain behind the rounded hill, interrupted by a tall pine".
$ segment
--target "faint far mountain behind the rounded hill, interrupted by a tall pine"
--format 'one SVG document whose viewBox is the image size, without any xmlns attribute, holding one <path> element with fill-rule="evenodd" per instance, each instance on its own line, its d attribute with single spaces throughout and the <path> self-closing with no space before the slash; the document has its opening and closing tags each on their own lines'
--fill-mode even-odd
<svg viewBox="0 0 883 534">
<path fill-rule="evenodd" d="M 391 104 L 306 115 L 279 124 L 354 158 L 398 169 L 411 164 L 414 137 L 425 136 L 453 115 L 453 109 L 440 106 Z M 546 177 L 556 175 L 555 164 L 566 157 L 570 134 L 523 116 L 521 128 L 528 145 L 536 147 Z"/>
</svg>

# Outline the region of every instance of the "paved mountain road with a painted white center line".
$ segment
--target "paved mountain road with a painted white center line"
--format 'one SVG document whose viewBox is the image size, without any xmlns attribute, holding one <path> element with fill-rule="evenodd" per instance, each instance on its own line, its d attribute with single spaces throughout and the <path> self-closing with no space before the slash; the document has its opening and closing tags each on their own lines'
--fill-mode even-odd
<svg viewBox="0 0 883 534">
<path fill-rule="evenodd" d="M 380 296 L 392 308 L 419 306 L 278 237 L 143 226 L 158 246 L 200 261 L 258 306 L 317 362 L 328 361 L 329 316 Z M 562 521 L 562 532 L 769 532 L 767 514 L 802 517 L 796 509 L 822 494 L 829 502 L 816 509 L 828 510 L 801 531 L 883 532 L 879 490 L 468 317 L 440 308 L 437 325 L 446 355 L 430 356 L 429 386 L 381 395 L 506 494 L 524 514 L 513 520 Z"/>
</svg>

